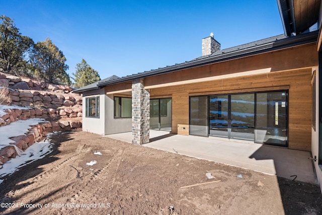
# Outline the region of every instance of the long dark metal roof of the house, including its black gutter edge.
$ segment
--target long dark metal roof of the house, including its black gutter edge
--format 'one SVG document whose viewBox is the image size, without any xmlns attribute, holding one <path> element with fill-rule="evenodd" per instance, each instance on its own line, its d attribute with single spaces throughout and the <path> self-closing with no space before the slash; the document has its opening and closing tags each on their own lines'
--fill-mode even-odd
<svg viewBox="0 0 322 215">
<path fill-rule="evenodd" d="M 269 51 L 274 51 L 274 50 L 278 50 L 278 49 L 282 49 L 282 48 L 306 44 L 306 43 L 310 43 L 310 42 L 316 42 L 317 35 L 318 35 L 318 31 L 314 31 L 314 32 L 306 33 L 306 34 L 301 34 L 301 35 L 294 36 L 294 37 L 286 37 L 284 34 L 281 34 L 281 35 L 277 35 L 274 37 L 269 37 L 266 39 L 254 41 L 251 43 L 219 50 L 219 51 L 212 53 L 211 55 L 201 56 L 201 57 L 192 59 L 190 61 L 186 61 L 183 63 L 177 63 L 172 66 L 166 66 L 166 67 L 158 68 L 158 69 L 151 69 L 149 71 L 144 71 L 143 73 L 133 74 L 131 76 L 126 76 L 126 77 L 113 79 L 113 80 L 104 79 L 102 81 L 94 83 L 94 84 L 97 84 L 96 88 L 94 88 L 94 89 L 99 89 L 99 88 L 102 88 L 102 87 L 105 87 L 105 86 L 108 86 L 111 84 L 117 84 L 117 83 L 122 83 L 122 82 L 126 82 L 126 81 L 131 81 L 134 79 L 156 76 L 156 75 L 170 73 L 170 72 L 178 71 L 178 70 L 182 70 L 182 69 L 187 69 L 187 68 L 207 65 L 207 64 L 211 64 L 211 63 L 216 63 L 216 62 L 220 62 L 220 61 L 224 61 L 224 60 L 236 59 L 236 58 L 240 58 L 240 57 L 250 56 L 250 55 L 259 54 L 259 53 L 265 53 L 265 52 L 269 52 Z M 94 84 L 92 84 L 92 85 L 94 85 Z M 87 90 L 78 91 L 79 89 L 77 89 L 74 92 L 84 92 L 84 91 L 88 91 L 88 90 L 94 90 L 94 89 L 91 89 L 91 87 L 88 88 L 88 86 L 86 86 L 84 88 L 86 88 Z M 84 89 L 84 88 L 82 88 L 82 89 Z"/>
</svg>

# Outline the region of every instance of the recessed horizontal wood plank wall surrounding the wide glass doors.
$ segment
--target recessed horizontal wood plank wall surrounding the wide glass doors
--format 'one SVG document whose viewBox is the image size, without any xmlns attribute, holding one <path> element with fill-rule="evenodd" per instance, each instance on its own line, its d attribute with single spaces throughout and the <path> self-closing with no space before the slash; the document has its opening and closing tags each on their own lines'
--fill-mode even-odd
<svg viewBox="0 0 322 215">
<path fill-rule="evenodd" d="M 172 131 L 178 132 L 178 124 L 189 124 L 189 96 L 204 92 L 220 94 L 239 89 L 254 89 L 253 92 L 278 86 L 289 90 L 289 148 L 310 151 L 311 147 L 311 69 L 299 69 L 230 78 L 203 83 L 150 89 L 150 96 L 172 95 Z M 260 89 L 260 90 L 256 90 Z M 283 89 L 280 87 L 278 89 Z M 249 91 L 248 91 L 249 92 Z"/>
</svg>

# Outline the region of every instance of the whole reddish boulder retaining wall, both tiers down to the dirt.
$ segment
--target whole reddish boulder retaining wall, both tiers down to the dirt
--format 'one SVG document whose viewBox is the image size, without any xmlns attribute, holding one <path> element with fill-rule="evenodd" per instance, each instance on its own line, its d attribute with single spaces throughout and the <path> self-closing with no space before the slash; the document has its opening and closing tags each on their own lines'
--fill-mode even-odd
<svg viewBox="0 0 322 215">
<path fill-rule="evenodd" d="M 15 147 L 25 151 L 34 142 L 40 141 L 48 132 L 82 127 L 82 95 L 71 93 L 69 86 L 48 84 L 44 81 L 19 78 L 0 73 L 0 87 L 10 96 L 12 106 L 0 116 L 0 126 L 18 120 L 45 118 L 47 122 L 31 125 L 27 133 L 11 137 L 11 145 L 0 149 L 0 169 L 3 163 L 15 158 Z M 1 105 L 1 104 L 0 104 Z M 14 146 L 15 145 L 15 146 Z"/>
</svg>

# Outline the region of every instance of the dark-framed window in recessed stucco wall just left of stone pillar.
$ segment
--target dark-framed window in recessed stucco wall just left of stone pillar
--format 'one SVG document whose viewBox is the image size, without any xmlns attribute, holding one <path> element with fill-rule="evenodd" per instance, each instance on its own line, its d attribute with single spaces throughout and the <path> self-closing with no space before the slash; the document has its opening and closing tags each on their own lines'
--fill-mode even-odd
<svg viewBox="0 0 322 215">
<path fill-rule="evenodd" d="M 114 97 L 114 118 L 132 117 L 132 98 Z"/>
</svg>

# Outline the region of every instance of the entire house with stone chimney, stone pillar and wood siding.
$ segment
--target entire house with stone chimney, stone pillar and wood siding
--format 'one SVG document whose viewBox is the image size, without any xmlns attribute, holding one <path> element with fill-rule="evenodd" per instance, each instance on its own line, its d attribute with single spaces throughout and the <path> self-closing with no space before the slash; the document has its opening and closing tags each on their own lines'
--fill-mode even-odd
<svg viewBox="0 0 322 215">
<path fill-rule="evenodd" d="M 211 34 L 196 59 L 75 90 L 83 93 L 83 130 L 131 131 L 134 144 L 157 129 L 310 151 L 322 184 L 322 9 L 306 0 L 314 4 L 301 11 L 299 2 L 278 1 L 283 35 L 221 50 Z"/>
</svg>

